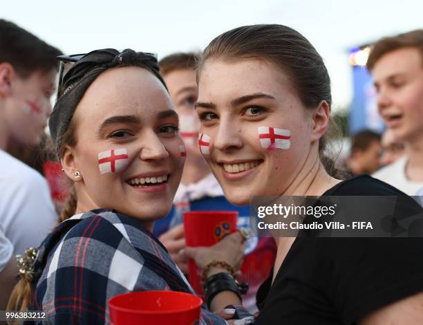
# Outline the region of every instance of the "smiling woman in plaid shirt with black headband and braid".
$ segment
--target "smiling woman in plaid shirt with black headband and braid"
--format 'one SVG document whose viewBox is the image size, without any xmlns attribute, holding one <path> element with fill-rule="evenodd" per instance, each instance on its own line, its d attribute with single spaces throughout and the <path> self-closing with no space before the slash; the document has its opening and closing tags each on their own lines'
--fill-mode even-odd
<svg viewBox="0 0 423 325">
<path fill-rule="evenodd" d="M 109 324 L 107 302 L 137 290 L 193 293 L 164 246 L 151 234 L 167 215 L 185 157 L 155 57 L 95 50 L 66 73 L 50 116 L 50 134 L 73 194 L 38 252 L 21 260 L 10 310 L 37 310 L 39 324 Z M 196 259 L 238 270 L 245 237 L 227 236 Z M 229 276 L 212 267 L 208 276 Z M 230 276 L 229 276 L 230 277 Z M 235 282 L 234 282 L 235 284 Z M 236 286 L 207 301 L 222 317 L 240 304 Z M 232 313 L 231 313 L 232 311 Z M 226 324 L 203 307 L 200 324 Z M 30 324 L 30 322 L 26 322 Z"/>
</svg>

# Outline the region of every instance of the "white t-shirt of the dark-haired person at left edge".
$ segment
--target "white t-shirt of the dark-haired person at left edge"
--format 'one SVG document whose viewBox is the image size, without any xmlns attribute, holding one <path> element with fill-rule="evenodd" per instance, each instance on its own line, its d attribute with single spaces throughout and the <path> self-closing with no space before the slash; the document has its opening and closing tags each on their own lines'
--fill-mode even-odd
<svg viewBox="0 0 423 325">
<path fill-rule="evenodd" d="M 38 247 L 57 222 L 44 177 L 0 150 L 0 193 L 0 223 L 14 254 Z"/>
</svg>

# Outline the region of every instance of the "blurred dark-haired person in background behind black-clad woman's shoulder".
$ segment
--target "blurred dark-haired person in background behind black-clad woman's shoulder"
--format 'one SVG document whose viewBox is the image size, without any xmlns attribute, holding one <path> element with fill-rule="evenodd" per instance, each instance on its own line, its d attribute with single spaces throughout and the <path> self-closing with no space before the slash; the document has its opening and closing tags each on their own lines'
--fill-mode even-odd
<svg viewBox="0 0 423 325">
<path fill-rule="evenodd" d="M 347 168 L 353 175 L 372 174 L 380 167 L 379 133 L 364 130 L 355 134 L 351 144 L 351 154 L 346 160 Z"/>
</svg>

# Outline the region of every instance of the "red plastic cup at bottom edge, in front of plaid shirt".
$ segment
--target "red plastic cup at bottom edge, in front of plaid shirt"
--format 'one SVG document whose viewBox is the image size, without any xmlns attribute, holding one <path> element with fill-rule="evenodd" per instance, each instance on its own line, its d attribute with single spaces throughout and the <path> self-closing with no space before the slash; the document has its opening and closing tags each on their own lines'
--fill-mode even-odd
<svg viewBox="0 0 423 325">
<path fill-rule="evenodd" d="M 138 291 L 109 300 L 113 325 L 194 325 L 200 319 L 203 301 L 178 291 Z"/>
</svg>

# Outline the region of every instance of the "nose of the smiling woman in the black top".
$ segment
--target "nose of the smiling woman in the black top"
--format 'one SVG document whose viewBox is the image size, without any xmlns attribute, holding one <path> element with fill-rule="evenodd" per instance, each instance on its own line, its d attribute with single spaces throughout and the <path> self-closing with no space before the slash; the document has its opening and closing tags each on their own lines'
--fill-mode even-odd
<svg viewBox="0 0 423 325">
<path fill-rule="evenodd" d="M 220 117 L 220 122 L 214 135 L 214 148 L 220 151 L 231 151 L 243 147 L 241 139 L 241 127 L 234 121 Z"/>
</svg>

